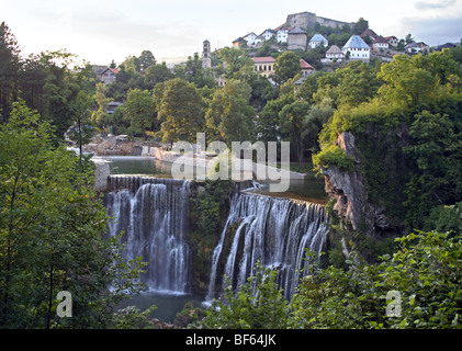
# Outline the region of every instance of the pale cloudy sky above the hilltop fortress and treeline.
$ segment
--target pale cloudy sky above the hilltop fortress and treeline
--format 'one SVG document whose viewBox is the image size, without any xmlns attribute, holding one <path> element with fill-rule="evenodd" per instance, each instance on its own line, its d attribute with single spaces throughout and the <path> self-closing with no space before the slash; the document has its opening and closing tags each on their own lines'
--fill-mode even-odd
<svg viewBox="0 0 462 351">
<path fill-rule="evenodd" d="M 364 18 L 380 35 L 410 33 L 428 45 L 462 38 L 462 0 L 0 0 L 0 22 L 24 56 L 67 49 L 93 65 L 144 49 L 158 60 L 192 56 L 205 39 L 214 50 L 304 11 L 345 22 Z"/>
</svg>

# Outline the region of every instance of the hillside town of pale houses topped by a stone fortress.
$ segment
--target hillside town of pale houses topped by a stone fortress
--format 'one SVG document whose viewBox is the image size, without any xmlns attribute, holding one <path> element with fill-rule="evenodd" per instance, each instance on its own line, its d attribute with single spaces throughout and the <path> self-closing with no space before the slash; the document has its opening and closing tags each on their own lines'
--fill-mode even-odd
<svg viewBox="0 0 462 351">
<path fill-rule="evenodd" d="M 364 24 L 367 27 L 361 29 Z M 266 29 L 260 34 L 249 32 L 237 37 L 230 44 L 232 48 L 245 50 L 253 61 L 255 71 L 268 78 L 272 84 L 277 84 L 273 79 L 275 58 L 284 52 L 298 50 L 316 54 L 311 55 L 311 60 L 300 59 L 302 77 L 298 83 L 301 83 L 306 76 L 315 71 L 335 70 L 352 60 L 370 63 L 378 59 L 390 63 L 395 55 L 428 54 L 460 45 L 460 43 L 446 43 L 430 47 L 424 42 L 415 41 L 410 34 L 405 38 L 398 38 L 393 33 L 378 34 L 369 27 L 368 21 L 362 18 L 357 23 L 347 23 L 319 18 L 311 12 L 289 14 L 284 24 L 274 29 Z M 261 55 L 263 50 L 270 52 L 271 55 Z M 211 55 L 211 43 L 205 39 L 201 57 L 202 68 L 212 68 Z M 178 65 L 182 66 L 184 63 Z M 173 71 L 173 67 L 170 67 L 171 71 Z M 111 67 L 94 66 L 93 68 L 104 83 L 116 80 L 119 69 L 114 63 Z M 215 83 L 223 87 L 226 83 L 224 75 L 215 75 Z"/>
</svg>

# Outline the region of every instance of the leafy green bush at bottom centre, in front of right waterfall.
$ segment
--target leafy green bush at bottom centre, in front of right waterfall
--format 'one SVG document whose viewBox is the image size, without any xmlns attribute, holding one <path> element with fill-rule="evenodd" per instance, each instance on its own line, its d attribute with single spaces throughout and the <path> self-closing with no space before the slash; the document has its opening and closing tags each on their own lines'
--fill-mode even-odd
<svg viewBox="0 0 462 351">
<path fill-rule="evenodd" d="M 229 285 L 225 301 L 215 299 L 202 319 L 202 328 L 284 329 L 290 318 L 289 302 L 275 283 L 278 272 L 256 263 L 255 274 L 235 294 Z"/>
</svg>

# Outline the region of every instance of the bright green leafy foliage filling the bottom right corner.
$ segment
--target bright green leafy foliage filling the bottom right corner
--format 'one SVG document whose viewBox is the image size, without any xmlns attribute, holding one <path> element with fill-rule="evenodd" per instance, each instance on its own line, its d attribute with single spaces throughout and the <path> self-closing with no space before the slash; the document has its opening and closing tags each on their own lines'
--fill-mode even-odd
<svg viewBox="0 0 462 351">
<path fill-rule="evenodd" d="M 315 269 L 293 297 L 292 326 L 460 328 L 460 236 L 418 233 L 396 241 L 401 249 L 379 264 L 347 261 L 347 270 Z M 399 317 L 386 315 L 390 291 L 402 296 Z"/>
</svg>

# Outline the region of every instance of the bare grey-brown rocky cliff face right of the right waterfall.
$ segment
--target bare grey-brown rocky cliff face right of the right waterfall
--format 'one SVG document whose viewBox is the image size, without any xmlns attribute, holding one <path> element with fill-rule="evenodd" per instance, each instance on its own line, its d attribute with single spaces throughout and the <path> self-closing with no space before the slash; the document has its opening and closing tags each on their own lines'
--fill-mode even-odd
<svg viewBox="0 0 462 351">
<path fill-rule="evenodd" d="M 357 167 L 348 172 L 340 171 L 336 167 L 322 169 L 326 182 L 326 192 L 337 201 L 334 206 L 336 214 L 347 219 L 354 230 L 364 231 L 372 237 L 398 230 L 386 216 L 385 208 L 370 202 L 353 134 L 350 132 L 341 133 L 337 139 L 337 145 L 345 150 L 347 156 L 354 159 Z"/>
</svg>

